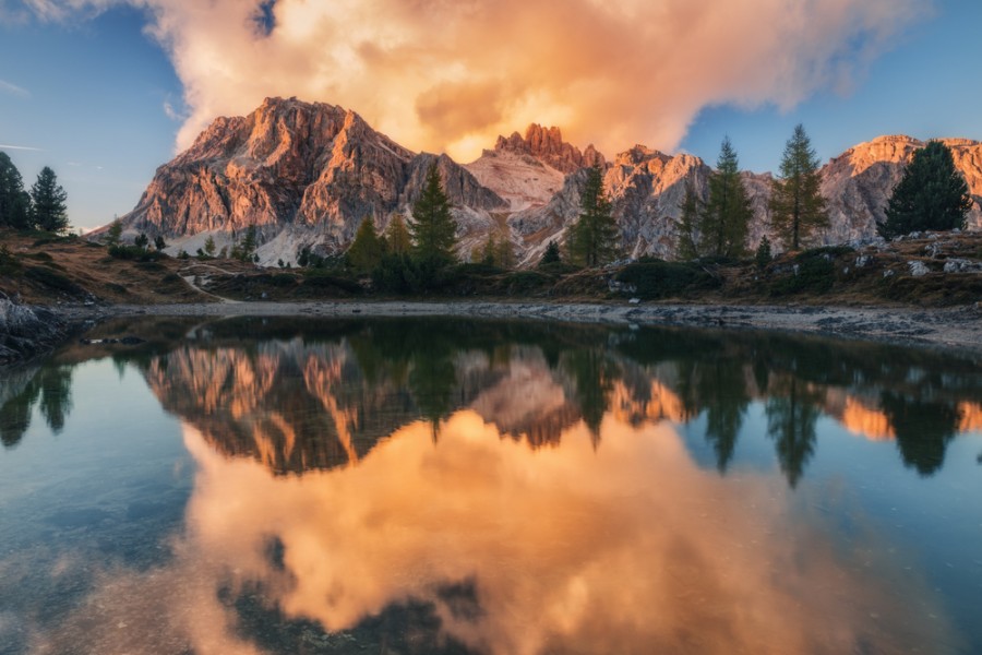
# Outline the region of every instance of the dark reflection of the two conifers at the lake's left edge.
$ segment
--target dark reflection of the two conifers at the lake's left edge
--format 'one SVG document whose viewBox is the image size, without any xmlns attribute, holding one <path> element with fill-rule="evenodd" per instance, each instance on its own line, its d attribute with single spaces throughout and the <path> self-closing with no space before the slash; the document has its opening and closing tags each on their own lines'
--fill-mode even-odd
<svg viewBox="0 0 982 655">
<path fill-rule="evenodd" d="M 0 407 L 0 441 L 16 445 L 31 427 L 31 413 L 39 405 L 41 416 L 56 434 L 64 428 L 72 409 L 72 367 L 46 366 Z"/>
</svg>

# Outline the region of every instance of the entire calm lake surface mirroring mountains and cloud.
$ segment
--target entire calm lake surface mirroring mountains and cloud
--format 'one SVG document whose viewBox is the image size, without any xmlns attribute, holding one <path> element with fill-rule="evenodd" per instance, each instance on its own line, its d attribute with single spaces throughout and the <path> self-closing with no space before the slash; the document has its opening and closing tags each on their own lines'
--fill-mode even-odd
<svg viewBox="0 0 982 655">
<path fill-rule="evenodd" d="M 117 322 L 0 378 L 0 653 L 979 653 L 982 365 Z M 98 336 L 98 335 L 96 335 Z"/>
</svg>

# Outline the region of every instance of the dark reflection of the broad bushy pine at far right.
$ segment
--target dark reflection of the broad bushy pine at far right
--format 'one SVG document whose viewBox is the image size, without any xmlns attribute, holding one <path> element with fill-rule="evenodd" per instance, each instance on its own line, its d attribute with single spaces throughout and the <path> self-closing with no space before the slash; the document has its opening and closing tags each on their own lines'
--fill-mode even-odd
<svg viewBox="0 0 982 655">
<path fill-rule="evenodd" d="M 945 451 L 958 430 L 958 408 L 942 402 L 907 398 L 889 391 L 881 406 L 894 427 L 906 466 L 921 475 L 934 474 L 945 463 Z"/>
</svg>

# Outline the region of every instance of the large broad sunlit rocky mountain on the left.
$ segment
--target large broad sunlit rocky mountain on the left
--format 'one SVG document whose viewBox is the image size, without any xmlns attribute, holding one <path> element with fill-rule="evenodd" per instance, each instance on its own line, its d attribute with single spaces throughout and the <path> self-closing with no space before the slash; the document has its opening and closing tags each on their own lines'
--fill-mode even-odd
<svg viewBox="0 0 982 655">
<path fill-rule="evenodd" d="M 446 155 L 417 155 L 354 111 L 267 98 L 248 117 L 216 119 L 157 169 L 122 221 L 129 234 L 163 235 L 175 252 L 194 252 L 207 236 L 221 248 L 254 225 L 261 262 L 294 261 L 304 246 L 344 249 L 366 216 L 383 227 L 407 212 L 433 163 L 458 207 L 507 207 Z"/>
</svg>

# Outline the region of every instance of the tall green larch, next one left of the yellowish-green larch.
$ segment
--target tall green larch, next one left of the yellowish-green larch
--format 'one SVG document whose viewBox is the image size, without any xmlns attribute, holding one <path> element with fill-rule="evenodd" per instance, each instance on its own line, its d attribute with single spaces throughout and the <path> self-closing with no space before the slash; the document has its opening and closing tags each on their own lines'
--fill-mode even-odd
<svg viewBox="0 0 982 655">
<path fill-rule="evenodd" d="M 716 257 L 742 257 L 747 225 L 753 218 L 746 189 L 740 179 L 740 163 L 730 138 L 723 139 L 709 176 L 709 200 L 699 216 L 699 250 Z"/>
</svg>

